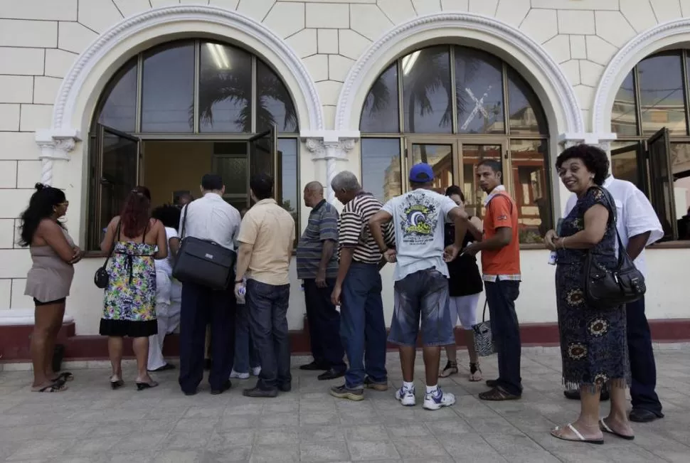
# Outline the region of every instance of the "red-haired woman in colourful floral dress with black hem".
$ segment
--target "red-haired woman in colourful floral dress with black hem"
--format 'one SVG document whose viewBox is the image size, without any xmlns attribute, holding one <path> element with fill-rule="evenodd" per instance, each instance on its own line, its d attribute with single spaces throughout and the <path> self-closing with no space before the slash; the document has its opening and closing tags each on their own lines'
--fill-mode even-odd
<svg viewBox="0 0 690 463">
<path fill-rule="evenodd" d="M 122 339 L 134 338 L 137 357 L 137 389 L 154 388 L 158 383 L 147 371 L 149 336 L 158 332 L 156 322 L 156 267 L 154 259 L 168 255 L 165 228 L 151 218 L 151 193 L 137 186 L 124 201 L 122 213 L 110 220 L 101 250 L 112 257 L 107 272 L 110 277 L 103 299 L 100 334 L 108 337 L 112 365 L 110 385 L 117 389 L 122 380 Z M 114 248 L 113 248 L 114 247 Z"/>
</svg>

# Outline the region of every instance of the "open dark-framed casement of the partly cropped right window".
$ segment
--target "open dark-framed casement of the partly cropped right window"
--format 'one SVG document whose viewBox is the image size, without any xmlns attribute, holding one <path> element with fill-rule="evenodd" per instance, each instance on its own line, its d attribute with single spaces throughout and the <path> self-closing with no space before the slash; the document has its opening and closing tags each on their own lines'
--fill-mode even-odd
<svg viewBox="0 0 690 463">
<path fill-rule="evenodd" d="M 664 127 L 647 140 L 647 155 L 649 156 L 649 176 L 652 179 L 652 206 L 662 223 L 664 240 L 672 240 L 674 236 L 678 236 L 678 224 L 672 191 L 674 183 L 670 169 L 669 129 Z"/>
</svg>

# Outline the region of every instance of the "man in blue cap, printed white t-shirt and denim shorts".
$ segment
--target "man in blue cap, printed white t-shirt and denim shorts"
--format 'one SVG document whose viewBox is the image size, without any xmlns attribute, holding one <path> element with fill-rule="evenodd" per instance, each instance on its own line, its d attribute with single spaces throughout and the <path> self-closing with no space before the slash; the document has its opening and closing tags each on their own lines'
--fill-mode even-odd
<svg viewBox="0 0 690 463">
<path fill-rule="evenodd" d="M 414 369 L 417 336 L 424 346 L 426 393 L 424 408 L 438 410 L 455 403 L 455 396 L 438 387 L 441 346 L 455 344 L 450 320 L 448 267 L 457 257 L 467 232 L 467 213 L 448 196 L 432 191 L 434 172 L 429 164 L 410 169 L 412 191 L 388 201 L 369 220 L 371 235 L 383 257 L 397 262 L 394 279 L 395 308 L 388 342 L 398 344 L 403 385 L 396 399 L 415 405 Z M 455 222 L 455 244 L 444 250 L 444 223 Z M 393 220 L 396 249 L 386 247 L 382 225 Z"/>
</svg>

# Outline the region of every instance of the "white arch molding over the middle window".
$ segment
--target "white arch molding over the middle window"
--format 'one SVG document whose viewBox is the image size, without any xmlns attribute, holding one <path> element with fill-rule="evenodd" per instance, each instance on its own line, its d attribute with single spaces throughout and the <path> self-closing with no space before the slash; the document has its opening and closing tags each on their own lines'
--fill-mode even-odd
<svg viewBox="0 0 690 463">
<path fill-rule="evenodd" d="M 585 132 L 580 106 L 568 78 L 551 55 L 519 29 L 472 13 L 420 16 L 400 24 L 373 43 L 352 66 L 340 92 L 335 129 L 359 129 L 359 115 L 368 90 L 393 60 L 420 45 L 462 39 L 492 48 L 534 88 L 549 116 L 553 135 Z M 556 127 L 553 127 L 556 125 Z M 555 138 L 555 137 L 554 137 Z"/>
</svg>

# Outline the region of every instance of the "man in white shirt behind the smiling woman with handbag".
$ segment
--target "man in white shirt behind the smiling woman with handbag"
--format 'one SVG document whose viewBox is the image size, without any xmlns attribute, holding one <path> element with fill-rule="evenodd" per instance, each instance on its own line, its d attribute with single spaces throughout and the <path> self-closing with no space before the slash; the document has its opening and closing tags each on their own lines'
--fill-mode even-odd
<svg viewBox="0 0 690 463">
<path fill-rule="evenodd" d="M 664 236 L 662 224 L 652 204 L 633 183 L 614 179 L 610 175 L 604 181 L 604 188 L 610 191 L 616 203 L 617 230 L 627 253 L 635 260 L 635 266 L 644 275 L 644 247 Z M 578 201 L 574 194 L 568 198 L 564 217 L 572 211 Z M 616 244 L 617 247 L 617 244 Z M 632 373 L 632 412 L 630 420 L 649 422 L 664 417 L 662 404 L 654 389 L 657 386 L 657 366 L 654 363 L 652 335 L 644 315 L 644 297 L 627 304 L 627 347 L 630 352 L 630 373 Z M 580 399 L 578 390 L 566 390 L 569 399 Z M 602 394 L 606 400 L 607 393 Z"/>
</svg>

